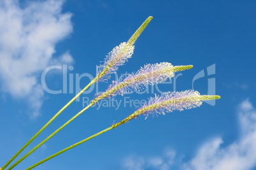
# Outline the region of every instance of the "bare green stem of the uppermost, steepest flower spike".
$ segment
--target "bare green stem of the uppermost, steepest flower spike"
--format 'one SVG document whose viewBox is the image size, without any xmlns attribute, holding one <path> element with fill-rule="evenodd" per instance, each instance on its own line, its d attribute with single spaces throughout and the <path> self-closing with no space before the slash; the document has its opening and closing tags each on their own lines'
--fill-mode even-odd
<svg viewBox="0 0 256 170">
<path fill-rule="evenodd" d="M 27 141 L 27 143 L 25 143 L 25 145 L 20 148 L 20 150 L 18 150 L 18 152 L 13 155 L 13 157 L 11 157 L 11 159 L 2 167 L 2 170 L 4 170 L 26 147 L 27 145 L 29 145 L 29 143 L 31 143 L 54 119 L 56 119 L 56 117 L 61 114 L 61 112 L 63 112 L 71 103 L 73 103 L 73 101 L 76 100 L 76 98 L 78 98 L 78 96 L 82 95 L 82 93 L 88 89 L 92 84 L 94 84 L 97 81 L 97 77 L 94 78 L 85 88 L 82 89 L 82 91 L 80 91 L 74 98 L 72 98 L 64 107 L 62 107 L 59 112 L 57 112 L 57 114 L 55 114 L 52 119 L 50 119 L 50 121 L 48 121 L 45 126 L 43 126 L 43 128 L 41 128 L 36 134 L 34 134 L 34 136 L 32 136 L 32 138 Z"/>
</svg>

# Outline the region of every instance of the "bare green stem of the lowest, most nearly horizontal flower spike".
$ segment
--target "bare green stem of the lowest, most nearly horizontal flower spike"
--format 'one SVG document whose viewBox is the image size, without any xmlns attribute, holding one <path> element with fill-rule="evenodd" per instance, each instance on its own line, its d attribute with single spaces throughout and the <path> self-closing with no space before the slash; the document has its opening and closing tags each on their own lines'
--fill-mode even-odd
<svg viewBox="0 0 256 170">
<path fill-rule="evenodd" d="M 106 131 L 109 131 L 110 129 L 113 129 L 113 128 L 115 128 L 115 127 L 111 126 L 110 128 L 104 129 L 103 131 L 100 131 L 99 133 L 96 133 L 96 134 L 90 136 L 89 138 L 86 138 L 86 139 L 84 139 L 84 140 L 82 140 L 82 141 L 79 141 L 78 143 L 75 143 L 74 145 L 71 145 L 71 146 L 68 147 L 68 148 L 64 148 L 63 150 L 60 150 L 60 151 L 57 152 L 56 154 L 53 154 L 53 155 L 51 155 L 50 157 L 47 157 L 46 159 L 43 159 L 43 160 L 39 161 L 38 163 L 36 163 L 36 164 L 34 164 L 34 165 L 28 167 L 28 168 L 25 169 L 25 170 L 29 170 L 29 169 L 32 169 L 32 168 L 34 168 L 34 167 L 36 167 L 36 166 L 39 166 L 40 164 L 43 164 L 43 162 L 46 162 L 47 160 L 50 160 L 50 159 L 52 159 L 53 157 L 56 157 L 57 155 L 60 155 L 60 154 L 62 154 L 63 152 L 66 152 L 67 150 L 69 150 L 69 149 L 71 149 L 71 148 L 74 148 L 74 147 L 76 147 L 76 146 L 82 144 L 83 142 L 88 141 L 88 140 L 90 140 L 90 139 L 92 139 L 92 138 L 94 138 L 94 137 L 96 137 L 96 136 L 99 136 L 99 134 L 103 134 L 103 133 L 105 133 Z"/>
</svg>

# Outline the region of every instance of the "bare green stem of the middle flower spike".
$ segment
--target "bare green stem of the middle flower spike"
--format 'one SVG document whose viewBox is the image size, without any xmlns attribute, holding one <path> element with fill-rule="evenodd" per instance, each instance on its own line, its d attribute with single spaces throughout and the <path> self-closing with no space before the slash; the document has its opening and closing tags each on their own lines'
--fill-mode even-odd
<svg viewBox="0 0 256 170">
<path fill-rule="evenodd" d="M 22 160 L 24 160 L 26 157 L 28 157 L 30 154 L 32 154 L 32 152 L 34 152 L 35 150 L 37 150 L 39 147 L 41 147 L 41 145 L 43 145 L 43 143 L 45 143 L 47 140 L 49 140 L 50 138 L 52 138 L 52 136 L 54 136 L 56 133 L 58 133 L 61 129 L 63 129 L 65 126 L 67 126 L 70 122 L 72 122 L 74 119 L 76 119 L 76 117 L 78 117 L 78 115 L 82 114 L 85 110 L 87 110 L 88 108 L 90 108 L 92 105 L 94 104 L 90 104 L 87 107 L 83 108 L 83 110 L 81 110 L 80 112 L 78 112 L 78 114 L 76 114 L 75 116 L 73 116 L 71 119 L 69 119 L 68 122 L 66 122 L 65 124 L 63 124 L 62 126 L 60 126 L 59 129 L 57 129 L 56 131 L 54 131 L 52 134 L 50 134 L 47 138 L 45 138 L 45 140 L 41 141 L 41 143 L 39 143 L 38 145 L 36 145 L 36 147 L 32 148 L 31 151 L 29 151 L 27 154 L 25 154 L 22 158 L 20 158 L 17 162 L 15 162 L 15 164 L 13 164 L 11 167 L 9 167 L 7 170 L 13 169 L 13 167 L 17 166 L 20 162 L 22 162 Z"/>
</svg>

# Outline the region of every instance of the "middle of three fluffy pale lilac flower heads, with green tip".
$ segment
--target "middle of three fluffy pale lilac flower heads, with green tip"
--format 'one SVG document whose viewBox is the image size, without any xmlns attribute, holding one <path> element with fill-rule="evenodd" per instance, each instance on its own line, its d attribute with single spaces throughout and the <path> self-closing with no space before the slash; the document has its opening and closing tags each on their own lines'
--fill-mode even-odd
<svg viewBox="0 0 256 170">
<path fill-rule="evenodd" d="M 92 100 L 92 103 L 115 95 L 125 95 L 134 89 L 140 90 L 147 84 L 153 85 L 164 82 L 168 78 L 173 77 L 174 72 L 191 69 L 192 67 L 192 65 L 173 67 L 171 63 L 167 62 L 145 65 L 145 67 L 141 67 L 135 74 L 130 74 L 125 77 L 124 80 L 113 81 L 104 93 Z"/>
</svg>

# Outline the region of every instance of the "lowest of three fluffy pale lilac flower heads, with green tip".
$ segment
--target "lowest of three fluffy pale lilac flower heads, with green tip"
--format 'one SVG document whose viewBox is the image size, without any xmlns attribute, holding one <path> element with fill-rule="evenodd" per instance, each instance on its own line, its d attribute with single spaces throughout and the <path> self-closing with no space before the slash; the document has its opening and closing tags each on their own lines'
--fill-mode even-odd
<svg viewBox="0 0 256 170">
<path fill-rule="evenodd" d="M 173 110 L 184 110 L 199 107 L 202 105 L 203 100 L 217 100 L 220 96 L 218 95 L 200 95 L 198 91 L 187 90 L 181 92 L 167 92 L 160 96 L 155 95 L 154 98 L 150 98 L 148 103 L 143 107 L 136 110 L 133 114 L 126 117 L 124 120 L 113 124 L 112 127 L 116 128 L 121 124 L 124 124 L 132 119 L 137 118 L 139 115 L 173 112 Z"/>
</svg>

